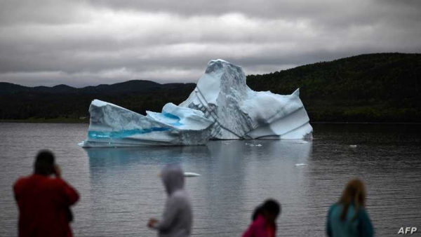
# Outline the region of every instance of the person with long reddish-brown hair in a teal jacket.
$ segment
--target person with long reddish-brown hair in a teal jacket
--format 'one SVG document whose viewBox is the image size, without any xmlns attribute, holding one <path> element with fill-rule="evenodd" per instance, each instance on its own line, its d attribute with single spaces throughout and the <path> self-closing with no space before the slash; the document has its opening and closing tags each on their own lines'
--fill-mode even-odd
<svg viewBox="0 0 421 237">
<path fill-rule="evenodd" d="M 338 203 L 328 212 L 326 231 L 330 237 L 373 236 L 373 226 L 365 210 L 366 189 L 361 180 L 348 182 Z"/>
</svg>

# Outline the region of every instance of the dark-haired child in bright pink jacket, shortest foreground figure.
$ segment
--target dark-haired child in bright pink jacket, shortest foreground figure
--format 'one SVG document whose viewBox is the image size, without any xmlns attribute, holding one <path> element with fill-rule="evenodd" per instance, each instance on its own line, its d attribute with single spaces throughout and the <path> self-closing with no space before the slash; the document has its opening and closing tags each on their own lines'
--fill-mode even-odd
<svg viewBox="0 0 421 237">
<path fill-rule="evenodd" d="M 258 206 L 253 213 L 253 222 L 248 226 L 243 237 L 275 237 L 276 218 L 281 212 L 281 205 L 273 199 L 268 199 Z"/>
</svg>

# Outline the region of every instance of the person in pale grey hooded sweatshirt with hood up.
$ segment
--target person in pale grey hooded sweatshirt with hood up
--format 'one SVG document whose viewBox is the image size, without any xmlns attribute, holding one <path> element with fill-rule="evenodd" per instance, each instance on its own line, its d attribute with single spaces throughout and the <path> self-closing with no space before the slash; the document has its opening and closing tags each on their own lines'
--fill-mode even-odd
<svg viewBox="0 0 421 237">
<path fill-rule="evenodd" d="M 158 230 L 159 237 L 190 236 L 192 229 L 192 205 L 184 189 L 185 177 L 180 165 L 166 165 L 161 178 L 168 194 L 161 221 L 151 218 L 148 226 Z"/>
</svg>

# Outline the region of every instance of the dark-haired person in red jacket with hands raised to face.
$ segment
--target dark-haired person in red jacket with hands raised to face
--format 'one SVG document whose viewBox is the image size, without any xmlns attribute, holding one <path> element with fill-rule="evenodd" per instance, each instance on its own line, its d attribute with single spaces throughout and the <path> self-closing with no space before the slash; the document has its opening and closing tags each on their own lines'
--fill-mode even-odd
<svg viewBox="0 0 421 237">
<path fill-rule="evenodd" d="M 62 180 L 54 160 L 51 151 L 39 151 L 34 174 L 20 177 L 13 186 L 19 208 L 19 237 L 72 237 L 69 207 L 79 200 L 79 194 Z"/>
</svg>

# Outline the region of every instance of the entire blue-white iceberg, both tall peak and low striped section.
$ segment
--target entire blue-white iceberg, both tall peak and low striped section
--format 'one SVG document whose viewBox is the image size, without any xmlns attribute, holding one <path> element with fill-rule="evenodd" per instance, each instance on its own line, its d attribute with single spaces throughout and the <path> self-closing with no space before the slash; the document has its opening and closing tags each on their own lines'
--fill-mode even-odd
<svg viewBox="0 0 421 237">
<path fill-rule="evenodd" d="M 313 128 L 300 100 L 255 92 L 241 67 L 211 60 L 194 91 L 180 105 L 142 116 L 115 104 L 93 100 L 83 147 L 206 144 L 209 139 L 312 139 Z"/>
</svg>

